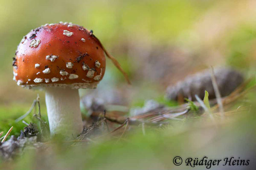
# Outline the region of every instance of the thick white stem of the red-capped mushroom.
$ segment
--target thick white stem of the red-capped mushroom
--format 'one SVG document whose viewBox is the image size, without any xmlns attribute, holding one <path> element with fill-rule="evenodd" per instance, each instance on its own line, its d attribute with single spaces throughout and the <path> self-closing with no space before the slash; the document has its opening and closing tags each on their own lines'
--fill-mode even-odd
<svg viewBox="0 0 256 170">
<path fill-rule="evenodd" d="M 82 132 L 78 89 L 45 88 L 45 102 L 51 136 L 76 138 Z"/>
</svg>

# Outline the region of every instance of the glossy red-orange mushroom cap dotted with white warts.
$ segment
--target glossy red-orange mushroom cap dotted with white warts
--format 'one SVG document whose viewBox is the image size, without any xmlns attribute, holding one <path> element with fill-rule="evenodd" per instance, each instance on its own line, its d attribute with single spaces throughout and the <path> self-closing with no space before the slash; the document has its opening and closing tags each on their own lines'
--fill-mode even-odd
<svg viewBox="0 0 256 170">
<path fill-rule="evenodd" d="M 24 87 L 96 88 L 106 59 L 92 31 L 59 23 L 46 24 L 23 37 L 13 66 L 14 79 Z"/>
</svg>

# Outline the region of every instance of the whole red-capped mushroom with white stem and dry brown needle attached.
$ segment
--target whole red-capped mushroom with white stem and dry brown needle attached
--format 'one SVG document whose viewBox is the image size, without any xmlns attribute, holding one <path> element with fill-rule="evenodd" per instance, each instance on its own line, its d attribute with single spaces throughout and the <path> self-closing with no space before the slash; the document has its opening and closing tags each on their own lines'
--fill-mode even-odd
<svg viewBox="0 0 256 170">
<path fill-rule="evenodd" d="M 96 88 L 105 73 L 104 52 L 122 71 L 92 31 L 82 26 L 46 24 L 21 40 L 13 61 L 14 80 L 45 91 L 52 135 L 75 137 L 82 132 L 78 89 Z"/>
</svg>

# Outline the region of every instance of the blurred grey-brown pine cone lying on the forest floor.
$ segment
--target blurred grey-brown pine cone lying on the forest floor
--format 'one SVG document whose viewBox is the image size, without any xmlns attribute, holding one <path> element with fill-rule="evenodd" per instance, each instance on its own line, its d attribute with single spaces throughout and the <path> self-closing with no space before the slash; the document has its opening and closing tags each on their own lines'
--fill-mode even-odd
<svg viewBox="0 0 256 170">
<path fill-rule="evenodd" d="M 244 81 L 244 77 L 239 71 L 230 68 L 216 68 L 214 72 L 221 97 L 229 95 Z M 183 81 L 177 82 L 176 85 L 169 86 L 166 98 L 176 101 L 188 98 L 195 101 L 196 94 L 201 99 L 204 98 L 205 90 L 209 93 L 209 99 L 215 99 L 210 70 L 188 76 Z"/>
</svg>

